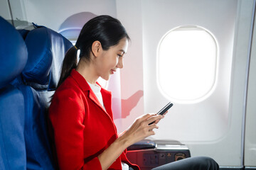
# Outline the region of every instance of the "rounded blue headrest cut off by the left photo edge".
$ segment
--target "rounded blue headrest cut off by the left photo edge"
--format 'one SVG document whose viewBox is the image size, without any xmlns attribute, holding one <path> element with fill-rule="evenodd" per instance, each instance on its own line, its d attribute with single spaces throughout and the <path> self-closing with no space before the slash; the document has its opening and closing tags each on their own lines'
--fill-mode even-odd
<svg viewBox="0 0 256 170">
<path fill-rule="evenodd" d="M 21 74 L 28 59 L 20 33 L 0 16 L 0 89 Z"/>
</svg>

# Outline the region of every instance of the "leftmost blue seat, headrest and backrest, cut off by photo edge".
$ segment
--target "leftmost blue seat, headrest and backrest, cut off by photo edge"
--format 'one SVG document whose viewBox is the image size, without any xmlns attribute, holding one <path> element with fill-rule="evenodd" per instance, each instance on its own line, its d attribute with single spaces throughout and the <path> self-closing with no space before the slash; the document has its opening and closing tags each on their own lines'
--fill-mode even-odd
<svg viewBox="0 0 256 170">
<path fill-rule="evenodd" d="M 23 38 L 0 16 L 0 169 L 26 169 L 24 97 L 11 81 L 21 74 L 27 58 Z"/>
</svg>

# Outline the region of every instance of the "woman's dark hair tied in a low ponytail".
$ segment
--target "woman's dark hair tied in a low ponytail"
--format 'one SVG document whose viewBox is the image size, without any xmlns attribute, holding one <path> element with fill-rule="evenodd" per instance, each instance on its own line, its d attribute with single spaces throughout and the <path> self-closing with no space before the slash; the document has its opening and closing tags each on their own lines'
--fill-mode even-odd
<svg viewBox="0 0 256 170">
<path fill-rule="evenodd" d="M 65 55 L 57 88 L 70 75 L 72 69 L 78 66 L 78 50 L 80 50 L 80 60 L 90 62 L 90 52 L 92 51 L 93 42 L 96 40 L 100 41 L 102 49 L 108 50 L 110 47 L 117 45 L 119 40 L 125 37 L 129 40 L 124 26 L 122 26 L 119 20 L 111 16 L 97 16 L 85 23 L 75 46 L 71 47 Z"/>
</svg>

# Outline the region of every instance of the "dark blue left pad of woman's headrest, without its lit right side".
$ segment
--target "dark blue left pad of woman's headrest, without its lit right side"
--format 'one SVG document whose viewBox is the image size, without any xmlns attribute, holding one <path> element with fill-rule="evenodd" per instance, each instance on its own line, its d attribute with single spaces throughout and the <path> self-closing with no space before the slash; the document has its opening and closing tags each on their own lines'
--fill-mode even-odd
<svg viewBox="0 0 256 170">
<path fill-rule="evenodd" d="M 31 30 L 26 35 L 28 62 L 23 69 L 23 79 L 28 83 L 48 84 L 52 64 L 51 44 L 46 28 Z"/>
</svg>

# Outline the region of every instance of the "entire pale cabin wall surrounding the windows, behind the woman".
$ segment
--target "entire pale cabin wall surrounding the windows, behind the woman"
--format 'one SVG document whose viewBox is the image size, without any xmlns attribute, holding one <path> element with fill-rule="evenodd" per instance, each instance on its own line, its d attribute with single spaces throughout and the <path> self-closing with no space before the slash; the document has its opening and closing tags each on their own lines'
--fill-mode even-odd
<svg viewBox="0 0 256 170">
<path fill-rule="evenodd" d="M 85 11 L 108 14 L 122 22 L 131 43 L 124 57 L 124 69 L 119 73 L 122 115 L 115 120 L 119 132 L 139 115 L 156 112 L 169 101 L 156 85 L 156 50 L 161 37 L 176 26 L 194 24 L 207 28 L 218 40 L 220 50 L 217 92 L 201 103 L 174 103 L 159 123 L 157 134 L 149 139 L 178 140 L 189 147 L 192 156 L 205 155 L 213 157 L 220 166 L 241 167 L 245 135 L 245 165 L 256 166 L 255 31 L 246 93 L 255 0 L 24 0 L 18 3 L 11 0 L 10 3 L 14 19 L 57 32 L 69 16 Z M 1 16 L 11 19 L 7 0 L 1 0 L 0 9 Z"/>
</svg>

